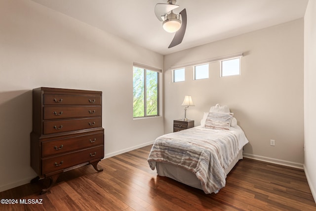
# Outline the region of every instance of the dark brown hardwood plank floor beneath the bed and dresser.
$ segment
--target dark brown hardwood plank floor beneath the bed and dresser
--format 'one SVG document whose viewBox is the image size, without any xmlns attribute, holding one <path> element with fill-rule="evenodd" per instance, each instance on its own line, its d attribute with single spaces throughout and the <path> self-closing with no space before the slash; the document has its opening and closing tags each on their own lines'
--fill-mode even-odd
<svg viewBox="0 0 316 211">
<path fill-rule="evenodd" d="M 39 193 L 48 182 L 45 179 L 1 192 L 0 199 L 17 199 L 18 204 L 0 204 L 0 210 L 316 211 L 301 169 L 244 159 L 228 174 L 226 187 L 217 194 L 204 194 L 157 176 L 147 163 L 150 149 L 104 159 L 100 173 L 92 166 L 64 172 L 44 195 Z M 42 204 L 20 204 L 20 199 L 41 199 Z"/>
</svg>

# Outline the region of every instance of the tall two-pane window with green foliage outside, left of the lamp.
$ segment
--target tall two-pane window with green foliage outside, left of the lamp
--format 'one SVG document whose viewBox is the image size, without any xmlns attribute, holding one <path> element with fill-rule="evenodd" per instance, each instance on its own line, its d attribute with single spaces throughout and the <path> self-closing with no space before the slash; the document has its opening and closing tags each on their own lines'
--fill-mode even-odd
<svg viewBox="0 0 316 211">
<path fill-rule="evenodd" d="M 133 118 L 158 116 L 158 72 L 133 67 Z"/>
</svg>

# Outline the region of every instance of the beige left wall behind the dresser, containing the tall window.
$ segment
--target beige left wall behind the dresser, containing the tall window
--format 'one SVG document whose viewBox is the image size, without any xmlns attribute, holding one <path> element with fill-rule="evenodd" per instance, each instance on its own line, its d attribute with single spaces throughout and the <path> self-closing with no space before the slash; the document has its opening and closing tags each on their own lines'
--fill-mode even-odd
<svg viewBox="0 0 316 211">
<path fill-rule="evenodd" d="M 0 1 L 0 191 L 28 183 L 32 89 L 103 91 L 106 157 L 148 145 L 163 118 L 133 121 L 133 62 L 163 56 L 29 0 Z M 161 102 L 161 100 L 160 100 Z"/>
</svg>

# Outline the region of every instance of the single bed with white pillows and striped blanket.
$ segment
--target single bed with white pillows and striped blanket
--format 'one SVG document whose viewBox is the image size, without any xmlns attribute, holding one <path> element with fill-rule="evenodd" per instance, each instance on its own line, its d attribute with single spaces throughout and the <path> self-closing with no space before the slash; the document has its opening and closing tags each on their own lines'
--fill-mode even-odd
<svg viewBox="0 0 316 211">
<path fill-rule="evenodd" d="M 200 126 L 158 137 L 148 157 L 150 168 L 206 194 L 217 193 L 248 143 L 233 115 L 228 106 L 216 104 Z"/>
</svg>

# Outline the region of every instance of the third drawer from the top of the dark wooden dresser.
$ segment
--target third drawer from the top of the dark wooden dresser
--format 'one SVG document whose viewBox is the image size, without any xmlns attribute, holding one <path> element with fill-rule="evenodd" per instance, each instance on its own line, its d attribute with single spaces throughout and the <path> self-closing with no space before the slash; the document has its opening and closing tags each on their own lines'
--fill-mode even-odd
<svg viewBox="0 0 316 211">
<path fill-rule="evenodd" d="M 44 134 L 101 127 L 101 117 L 44 121 Z"/>
</svg>

